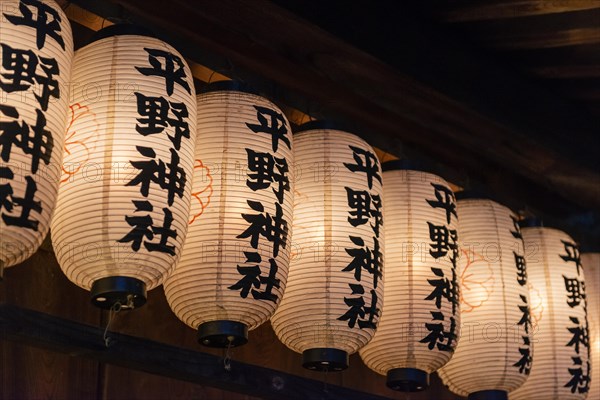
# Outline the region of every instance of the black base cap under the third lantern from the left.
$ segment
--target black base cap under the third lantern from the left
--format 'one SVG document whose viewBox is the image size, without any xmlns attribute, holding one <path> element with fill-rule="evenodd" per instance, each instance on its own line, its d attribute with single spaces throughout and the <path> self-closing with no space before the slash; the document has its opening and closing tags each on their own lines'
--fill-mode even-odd
<svg viewBox="0 0 600 400">
<path fill-rule="evenodd" d="M 209 321 L 198 326 L 198 342 L 207 347 L 237 347 L 248 343 L 248 327 L 237 321 Z"/>
</svg>

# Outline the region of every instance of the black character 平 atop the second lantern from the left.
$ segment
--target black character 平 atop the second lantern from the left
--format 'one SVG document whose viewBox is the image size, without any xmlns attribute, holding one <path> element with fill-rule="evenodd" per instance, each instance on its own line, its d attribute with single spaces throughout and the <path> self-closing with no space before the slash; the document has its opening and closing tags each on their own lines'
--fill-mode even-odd
<svg viewBox="0 0 600 400">
<path fill-rule="evenodd" d="M 160 49 L 144 47 L 144 50 L 148 53 L 150 67 L 135 67 L 135 69 L 145 76 L 160 76 L 165 78 L 165 85 L 169 96 L 173 94 L 176 83 L 189 94 L 192 93 L 190 85 L 186 81 L 187 76 L 183 60 L 179 56 Z"/>
</svg>

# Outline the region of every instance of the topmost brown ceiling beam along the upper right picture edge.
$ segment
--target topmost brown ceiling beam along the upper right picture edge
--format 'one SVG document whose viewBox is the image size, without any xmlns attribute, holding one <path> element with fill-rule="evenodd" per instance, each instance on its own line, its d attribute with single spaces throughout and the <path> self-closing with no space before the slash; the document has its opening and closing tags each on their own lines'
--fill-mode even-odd
<svg viewBox="0 0 600 400">
<path fill-rule="evenodd" d="M 470 1 L 468 5 L 443 12 L 442 19 L 447 22 L 484 21 L 592 10 L 596 8 L 600 8 L 598 0 Z"/>
</svg>

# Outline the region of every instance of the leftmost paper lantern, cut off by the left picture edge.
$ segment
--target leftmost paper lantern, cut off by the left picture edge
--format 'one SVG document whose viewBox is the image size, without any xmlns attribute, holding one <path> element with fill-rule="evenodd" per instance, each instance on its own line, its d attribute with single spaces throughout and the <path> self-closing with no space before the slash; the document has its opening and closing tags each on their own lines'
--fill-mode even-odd
<svg viewBox="0 0 600 400">
<path fill-rule="evenodd" d="M 0 7 L 0 278 L 48 233 L 56 202 L 73 59 L 54 1 Z"/>
</svg>

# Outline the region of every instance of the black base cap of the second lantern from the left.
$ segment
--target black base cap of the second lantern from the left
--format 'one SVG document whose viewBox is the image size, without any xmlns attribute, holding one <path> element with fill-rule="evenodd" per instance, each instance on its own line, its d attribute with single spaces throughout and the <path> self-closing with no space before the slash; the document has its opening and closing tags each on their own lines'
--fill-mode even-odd
<svg viewBox="0 0 600 400">
<path fill-rule="evenodd" d="M 129 276 L 109 276 L 92 284 L 92 304 L 105 310 L 132 310 L 146 304 L 146 284 Z"/>
</svg>

